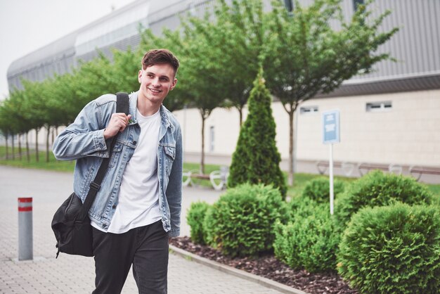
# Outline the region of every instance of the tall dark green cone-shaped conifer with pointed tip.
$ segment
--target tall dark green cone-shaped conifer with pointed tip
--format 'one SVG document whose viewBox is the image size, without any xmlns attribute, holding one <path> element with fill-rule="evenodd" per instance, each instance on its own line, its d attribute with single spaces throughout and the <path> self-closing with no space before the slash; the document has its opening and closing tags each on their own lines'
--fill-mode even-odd
<svg viewBox="0 0 440 294">
<path fill-rule="evenodd" d="M 260 70 L 248 101 L 249 114 L 240 129 L 229 170 L 228 186 L 238 184 L 272 184 L 286 193 L 285 178 L 280 170 L 280 153 L 276 148 L 276 124 L 271 109 L 271 94 Z"/>
</svg>

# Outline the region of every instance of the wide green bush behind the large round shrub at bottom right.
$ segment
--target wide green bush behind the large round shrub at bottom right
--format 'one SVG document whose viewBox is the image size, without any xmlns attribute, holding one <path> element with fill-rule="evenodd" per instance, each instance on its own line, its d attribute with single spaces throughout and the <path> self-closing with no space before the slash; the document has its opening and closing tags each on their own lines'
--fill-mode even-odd
<svg viewBox="0 0 440 294">
<path fill-rule="evenodd" d="M 396 202 L 409 205 L 431 204 L 432 193 L 413 177 L 369 172 L 346 188 L 335 202 L 335 215 L 347 224 L 362 207 L 386 206 Z"/>
</svg>

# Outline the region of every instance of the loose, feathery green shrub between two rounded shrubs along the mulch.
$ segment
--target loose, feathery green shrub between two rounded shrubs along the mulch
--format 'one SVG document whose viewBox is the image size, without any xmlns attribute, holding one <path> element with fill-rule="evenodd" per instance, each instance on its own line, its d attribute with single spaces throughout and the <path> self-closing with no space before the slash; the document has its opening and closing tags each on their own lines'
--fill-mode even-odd
<svg viewBox="0 0 440 294">
<path fill-rule="evenodd" d="M 276 225 L 273 248 L 278 260 L 310 272 L 335 271 L 341 231 L 328 205 L 299 205 L 293 219 Z"/>
</svg>

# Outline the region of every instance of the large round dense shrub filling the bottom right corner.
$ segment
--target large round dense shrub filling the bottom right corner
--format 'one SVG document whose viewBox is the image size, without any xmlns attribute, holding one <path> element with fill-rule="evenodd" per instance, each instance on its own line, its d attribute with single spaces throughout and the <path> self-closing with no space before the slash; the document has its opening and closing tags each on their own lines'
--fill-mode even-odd
<svg viewBox="0 0 440 294">
<path fill-rule="evenodd" d="M 338 271 L 361 293 L 440 293 L 438 207 L 364 208 L 351 219 Z"/>
</svg>

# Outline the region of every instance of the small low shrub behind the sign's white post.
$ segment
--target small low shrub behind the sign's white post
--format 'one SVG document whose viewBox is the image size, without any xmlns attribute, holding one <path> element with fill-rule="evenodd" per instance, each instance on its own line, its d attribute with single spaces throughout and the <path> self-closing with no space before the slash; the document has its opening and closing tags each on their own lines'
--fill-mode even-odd
<svg viewBox="0 0 440 294">
<path fill-rule="evenodd" d="M 333 182 L 333 195 L 344 192 L 344 182 L 335 179 Z M 330 201 L 330 182 L 328 178 L 319 177 L 307 182 L 302 190 L 302 197 L 310 198 L 318 203 L 329 203 Z"/>
</svg>

